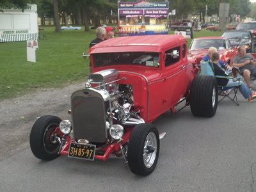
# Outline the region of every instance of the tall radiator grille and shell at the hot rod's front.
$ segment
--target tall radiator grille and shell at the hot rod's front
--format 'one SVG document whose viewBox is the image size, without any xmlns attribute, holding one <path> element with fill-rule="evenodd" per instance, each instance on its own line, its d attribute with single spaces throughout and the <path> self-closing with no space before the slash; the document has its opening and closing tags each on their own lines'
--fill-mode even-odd
<svg viewBox="0 0 256 192">
<path fill-rule="evenodd" d="M 72 94 L 72 129 L 76 140 L 106 142 L 105 102 L 108 102 L 106 92 L 93 88 L 78 90 Z"/>
</svg>

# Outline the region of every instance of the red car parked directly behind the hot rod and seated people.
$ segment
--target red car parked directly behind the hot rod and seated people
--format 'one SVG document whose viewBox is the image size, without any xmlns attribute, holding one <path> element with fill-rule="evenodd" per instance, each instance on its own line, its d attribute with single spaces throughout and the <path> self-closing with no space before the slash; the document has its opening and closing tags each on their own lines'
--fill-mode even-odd
<svg viewBox="0 0 256 192">
<path fill-rule="evenodd" d="M 189 47 L 189 61 L 200 64 L 202 58 L 208 54 L 210 47 L 216 47 L 220 54 L 220 60 L 232 65 L 234 56 L 237 54 L 237 47 L 232 47 L 228 38 L 221 36 L 207 36 L 193 39 Z"/>
</svg>

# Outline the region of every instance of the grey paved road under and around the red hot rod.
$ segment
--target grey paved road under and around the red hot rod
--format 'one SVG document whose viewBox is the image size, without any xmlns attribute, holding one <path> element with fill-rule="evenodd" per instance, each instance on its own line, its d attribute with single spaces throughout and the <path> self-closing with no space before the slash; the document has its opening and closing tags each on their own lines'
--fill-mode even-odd
<svg viewBox="0 0 256 192">
<path fill-rule="evenodd" d="M 195 118 L 189 108 L 175 114 L 166 112 L 159 117 L 154 124 L 159 132 L 167 132 L 167 135 L 161 140 L 156 170 L 148 177 L 132 174 L 123 159 L 109 159 L 106 162 L 68 157 L 49 162 L 36 159 L 28 145 L 30 127 L 37 116 L 45 113 L 67 118 L 67 94 L 80 85 L 36 93 L 19 99 L 15 104 L 13 100 L 0 102 L 5 109 L 5 115 L 0 116 L 0 131 L 3 132 L 0 191 L 256 189 L 256 101 L 248 103 L 241 97 L 240 106 L 228 100 L 221 102 L 213 118 Z M 52 94 L 60 97 L 56 99 Z M 31 104 L 28 106 L 29 102 Z M 21 131 L 19 140 L 15 137 Z"/>
</svg>

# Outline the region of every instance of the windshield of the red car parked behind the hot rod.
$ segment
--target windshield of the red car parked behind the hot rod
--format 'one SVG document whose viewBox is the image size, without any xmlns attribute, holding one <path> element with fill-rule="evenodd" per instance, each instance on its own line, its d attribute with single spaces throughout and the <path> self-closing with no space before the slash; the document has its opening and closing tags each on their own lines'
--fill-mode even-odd
<svg viewBox="0 0 256 192">
<path fill-rule="evenodd" d="M 216 47 L 217 49 L 227 48 L 224 39 L 195 39 L 191 44 L 190 50 L 209 49 L 210 47 Z"/>
</svg>

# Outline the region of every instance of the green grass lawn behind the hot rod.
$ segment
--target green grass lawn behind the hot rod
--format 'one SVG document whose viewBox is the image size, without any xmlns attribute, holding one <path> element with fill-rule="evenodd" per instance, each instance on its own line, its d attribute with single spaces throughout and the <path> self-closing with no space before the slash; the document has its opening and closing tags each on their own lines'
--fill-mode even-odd
<svg viewBox="0 0 256 192">
<path fill-rule="evenodd" d="M 83 79 L 86 81 L 89 60 L 84 60 L 81 55 L 88 51 L 95 31 L 61 31 L 61 34 L 53 31 L 53 27 L 40 31 L 47 39 L 38 40 L 36 63 L 27 61 L 26 42 L 0 44 L 0 100 L 33 92 L 37 88 L 55 88 Z M 194 37 L 220 35 L 220 31 L 194 33 Z"/>
</svg>

